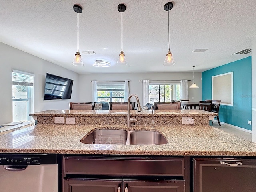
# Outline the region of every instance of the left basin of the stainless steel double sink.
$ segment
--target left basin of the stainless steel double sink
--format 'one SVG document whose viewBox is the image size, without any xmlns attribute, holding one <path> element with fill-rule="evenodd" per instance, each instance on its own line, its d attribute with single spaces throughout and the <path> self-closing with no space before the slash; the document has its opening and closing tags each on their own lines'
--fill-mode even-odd
<svg viewBox="0 0 256 192">
<path fill-rule="evenodd" d="M 90 133 L 82 139 L 86 144 L 119 144 L 125 145 L 127 140 L 127 131 L 119 129 L 100 129 Z"/>
</svg>

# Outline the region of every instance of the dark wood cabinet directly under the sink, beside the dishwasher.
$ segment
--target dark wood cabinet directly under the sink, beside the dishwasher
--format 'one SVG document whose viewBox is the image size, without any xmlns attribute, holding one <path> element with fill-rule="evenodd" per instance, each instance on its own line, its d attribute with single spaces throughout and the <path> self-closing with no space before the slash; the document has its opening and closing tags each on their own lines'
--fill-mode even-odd
<svg viewBox="0 0 256 192">
<path fill-rule="evenodd" d="M 188 164 L 184 157 L 64 156 L 62 191 L 188 192 Z"/>
</svg>

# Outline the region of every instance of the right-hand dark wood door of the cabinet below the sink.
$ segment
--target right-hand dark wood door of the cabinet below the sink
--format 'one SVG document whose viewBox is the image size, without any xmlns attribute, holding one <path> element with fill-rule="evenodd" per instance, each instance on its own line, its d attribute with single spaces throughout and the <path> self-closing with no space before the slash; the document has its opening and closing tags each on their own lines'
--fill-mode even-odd
<svg viewBox="0 0 256 192">
<path fill-rule="evenodd" d="M 125 181 L 128 192 L 184 192 L 184 180 Z"/>
</svg>

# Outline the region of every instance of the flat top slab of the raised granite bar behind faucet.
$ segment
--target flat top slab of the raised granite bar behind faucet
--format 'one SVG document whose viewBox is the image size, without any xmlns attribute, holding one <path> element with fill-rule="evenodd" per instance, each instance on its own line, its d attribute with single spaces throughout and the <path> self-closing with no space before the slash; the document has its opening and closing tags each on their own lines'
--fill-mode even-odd
<svg viewBox="0 0 256 192">
<path fill-rule="evenodd" d="M 218 116 L 218 113 L 204 110 L 153 110 L 157 116 Z M 152 116 L 151 110 L 130 110 L 131 115 Z M 127 116 L 127 110 L 46 110 L 29 114 L 30 116 Z"/>
</svg>

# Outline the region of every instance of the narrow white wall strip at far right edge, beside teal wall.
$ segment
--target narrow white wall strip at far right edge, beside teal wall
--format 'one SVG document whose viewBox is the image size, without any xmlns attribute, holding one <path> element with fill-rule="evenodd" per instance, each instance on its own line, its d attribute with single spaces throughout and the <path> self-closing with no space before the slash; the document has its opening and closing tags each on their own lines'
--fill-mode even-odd
<svg viewBox="0 0 256 192">
<path fill-rule="evenodd" d="M 256 32 L 252 39 L 252 142 L 256 143 Z"/>
</svg>

